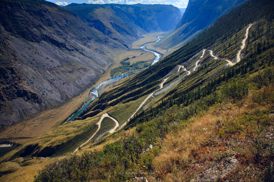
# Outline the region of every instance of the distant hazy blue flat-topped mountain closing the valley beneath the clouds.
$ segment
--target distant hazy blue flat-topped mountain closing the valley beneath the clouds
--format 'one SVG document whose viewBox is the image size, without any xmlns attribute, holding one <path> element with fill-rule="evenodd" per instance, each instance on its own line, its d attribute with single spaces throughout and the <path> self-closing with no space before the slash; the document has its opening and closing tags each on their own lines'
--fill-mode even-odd
<svg viewBox="0 0 274 182">
<path fill-rule="evenodd" d="M 170 31 L 180 21 L 180 10 L 172 5 L 69 4 L 65 8 L 90 27 L 125 46 L 144 32 Z"/>
</svg>

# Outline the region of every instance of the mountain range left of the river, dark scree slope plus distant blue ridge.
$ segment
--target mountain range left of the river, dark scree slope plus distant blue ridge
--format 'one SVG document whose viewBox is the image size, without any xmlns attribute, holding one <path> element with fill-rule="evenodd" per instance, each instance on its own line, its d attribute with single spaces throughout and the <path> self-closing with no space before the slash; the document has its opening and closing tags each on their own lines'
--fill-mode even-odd
<svg viewBox="0 0 274 182">
<path fill-rule="evenodd" d="M 171 5 L 68 5 L 76 13 L 83 8 L 78 16 L 47 1 L 0 3 L 2 125 L 59 106 L 83 92 L 141 34 L 172 29 L 182 16 Z M 174 21 L 163 19 L 155 9 L 166 11 Z"/>
</svg>

